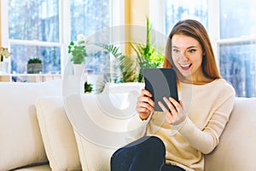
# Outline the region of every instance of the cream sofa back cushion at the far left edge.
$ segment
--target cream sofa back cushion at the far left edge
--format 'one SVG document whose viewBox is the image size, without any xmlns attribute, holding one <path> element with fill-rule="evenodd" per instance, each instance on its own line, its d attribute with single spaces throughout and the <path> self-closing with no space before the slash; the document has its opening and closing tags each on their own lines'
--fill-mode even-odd
<svg viewBox="0 0 256 171">
<path fill-rule="evenodd" d="M 61 95 L 61 83 L 0 83 L 0 170 L 48 162 L 34 103 Z"/>
</svg>

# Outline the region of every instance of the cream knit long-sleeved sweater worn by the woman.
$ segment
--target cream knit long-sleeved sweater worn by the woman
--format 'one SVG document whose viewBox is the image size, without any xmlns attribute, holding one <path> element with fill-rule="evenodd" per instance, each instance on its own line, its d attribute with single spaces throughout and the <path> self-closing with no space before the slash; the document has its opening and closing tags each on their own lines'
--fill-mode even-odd
<svg viewBox="0 0 256 171">
<path fill-rule="evenodd" d="M 137 121 L 131 123 L 133 128 L 139 124 L 132 137 L 158 136 L 166 145 L 166 163 L 201 171 L 204 169 L 203 154 L 218 145 L 219 136 L 229 120 L 235 90 L 224 79 L 205 85 L 180 83 L 179 100 L 183 100 L 183 109 L 188 114 L 183 123 L 172 127 L 166 123 L 163 112 L 154 112 L 147 121 L 137 117 Z"/>
</svg>

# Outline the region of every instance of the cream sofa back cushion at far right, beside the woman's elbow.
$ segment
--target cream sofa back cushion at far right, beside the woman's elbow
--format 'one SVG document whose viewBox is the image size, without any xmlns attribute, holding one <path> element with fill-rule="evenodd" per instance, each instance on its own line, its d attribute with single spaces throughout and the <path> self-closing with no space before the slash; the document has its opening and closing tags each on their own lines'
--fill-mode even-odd
<svg viewBox="0 0 256 171">
<path fill-rule="evenodd" d="M 236 98 L 218 146 L 206 155 L 205 171 L 256 170 L 256 98 Z"/>
</svg>

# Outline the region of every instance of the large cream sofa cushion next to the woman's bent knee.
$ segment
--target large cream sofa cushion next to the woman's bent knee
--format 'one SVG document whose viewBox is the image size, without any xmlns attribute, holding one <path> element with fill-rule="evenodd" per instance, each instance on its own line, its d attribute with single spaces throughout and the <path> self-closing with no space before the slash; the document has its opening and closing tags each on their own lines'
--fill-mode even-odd
<svg viewBox="0 0 256 171">
<path fill-rule="evenodd" d="M 74 125 L 83 170 L 109 170 L 110 157 L 127 141 L 127 126 L 136 115 L 139 94 L 68 96 L 65 109 Z"/>
</svg>

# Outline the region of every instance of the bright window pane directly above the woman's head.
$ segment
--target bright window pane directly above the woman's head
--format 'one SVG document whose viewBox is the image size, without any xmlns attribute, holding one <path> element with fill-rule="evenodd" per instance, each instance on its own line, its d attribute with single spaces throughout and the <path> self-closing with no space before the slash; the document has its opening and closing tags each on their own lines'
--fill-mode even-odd
<svg viewBox="0 0 256 171">
<path fill-rule="evenodd" d="M 200 21 L 207 29 L 207 0 L 166 0 L 166 35 L 179 20 L 194 19 Z"/>
</svg>

